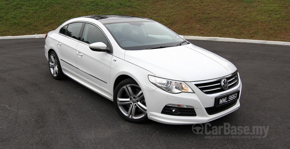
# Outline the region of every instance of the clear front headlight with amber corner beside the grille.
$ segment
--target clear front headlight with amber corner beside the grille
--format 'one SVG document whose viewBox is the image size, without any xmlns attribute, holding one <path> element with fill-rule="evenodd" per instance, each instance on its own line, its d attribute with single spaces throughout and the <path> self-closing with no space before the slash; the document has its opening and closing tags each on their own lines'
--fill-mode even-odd
<svg viewBox="0 0 290 149">
<path fill-rule="evenodd" d="M 154 77 L 151 75 L 148 75 L 148 78 L 151 83 L 169 93 L 181 93 L 181 92 L 194 93 L 193 90 L 190 87 L 188 87 L 188 85 L 185 84 L 184 82 L 167 80 L 163 78 Z"/>
</svg>

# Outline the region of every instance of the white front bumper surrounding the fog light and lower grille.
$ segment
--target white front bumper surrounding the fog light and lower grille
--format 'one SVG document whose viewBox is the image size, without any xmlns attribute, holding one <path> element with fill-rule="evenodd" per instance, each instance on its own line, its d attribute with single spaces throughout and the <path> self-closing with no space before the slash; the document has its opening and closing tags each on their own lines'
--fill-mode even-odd
<svg viewBox="0 0 290 149">
<path fill-rule="evenodd" d="M 165 92 L 159 88 L 153 91 L 144 90 L 144 96 L 147 105 L 147 116 L 150 120 L 157 121 L 165 124 L 196 124 L 196 123 L 207 123 L 212 120 L 223 117 L 240 107 L 240 95 L 241 95 L 241 82 L 229 92 L 240 90 L 239 98 L 234 106 L 221 111 L 217 114 L 209 115 L 205 108 L 212 107 L 214 105 L 214 99 L 220 95 L 205 95 L 198 90 L 193 84 L 188 84 L 195 93 L 179 93 L 172 94 Z M 223 94 L 227 94 L 223 93 Z M 180 105 L 191 105 L 194 107 L 196 116 L 174 116 L 161 114 L 162 109 L 167 104 L 180 104 Z"/>
</svg>

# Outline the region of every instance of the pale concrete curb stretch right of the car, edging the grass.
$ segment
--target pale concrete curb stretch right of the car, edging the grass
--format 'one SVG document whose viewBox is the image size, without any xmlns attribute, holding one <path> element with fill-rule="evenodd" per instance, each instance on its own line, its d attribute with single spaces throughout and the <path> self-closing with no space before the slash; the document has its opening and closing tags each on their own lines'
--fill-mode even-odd
<svg viewBox="0 0 290 149">
<path fill-rule="evenodd" d="M 290 45 L 290 42 L 283 41 L 265 41 L 265 40 L 251 40 L 251 39 L 235 39 L 235 38 L 221 38 L 221 37 L 201 37 L 201 36 L 183 36 L 186 40 L 209 40 L 209 41 L 228 41 L 228 42 L 245 42 L 256 44 L 277 44 Z"/>
</svg>

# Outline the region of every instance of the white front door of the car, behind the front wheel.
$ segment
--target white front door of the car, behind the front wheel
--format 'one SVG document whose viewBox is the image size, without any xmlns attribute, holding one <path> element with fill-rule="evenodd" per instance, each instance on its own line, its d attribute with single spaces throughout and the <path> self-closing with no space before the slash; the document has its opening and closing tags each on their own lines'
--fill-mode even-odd
<svg viewBox="0 0 290 149">
<path fill-rule="evenodd" d="M 107 48 L 111 48 L 111 44 L 101 29 L 86 23 L 82 33 L 82 40 L 76 48 L 78 78 L 106 93 L 110 93 L 109 81 L 112 54 L 92 51 L 89 48 L 89 44 L 95 42 L 103 42 L 107 45 Z"/>
</svg>

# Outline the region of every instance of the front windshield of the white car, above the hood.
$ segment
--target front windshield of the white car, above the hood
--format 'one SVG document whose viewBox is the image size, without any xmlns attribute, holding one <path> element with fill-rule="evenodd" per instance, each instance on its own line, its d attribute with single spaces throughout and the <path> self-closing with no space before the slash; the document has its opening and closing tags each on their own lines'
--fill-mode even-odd
<svg viewBox="0 0 290 149">
<path fill-rule="evenodd" d="M 157 22 L 126 22 L 104 25 L 124 50 L 163 48 L 176 46 L 185 41 Z"/>
</svg>

